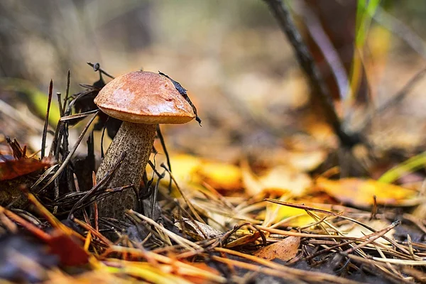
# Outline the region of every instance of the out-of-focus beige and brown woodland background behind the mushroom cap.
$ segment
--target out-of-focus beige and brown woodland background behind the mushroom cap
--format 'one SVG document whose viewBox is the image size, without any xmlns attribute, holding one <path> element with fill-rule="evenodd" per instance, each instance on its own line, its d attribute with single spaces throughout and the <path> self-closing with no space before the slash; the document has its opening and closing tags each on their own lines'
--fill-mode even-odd
<svg viewBox="0 0 426 284">
<path fill-rule="evenodd" d="M 344 5 L 344 1 L 335 1 Z M 289 4 L 297 11 L 298 1 Z M 381 9 L 391 21 L 387 26 L 373 21 L 366 41 L 374 63 L 369 87 L 377 105 L 423 67 L 426 54 L 389 33 L 393 25 L 403 23 L 425 38 L 426 2 L 387 0 L 381 1 Z M 43 117 L 46 102 L 40 91 L 47 91 L 50 79 L 54 92 L 62 93 L 68 69 L 72 93 L 80 91 L 78 83 L 92 84 L 98 79 L 86 62 L 99 62 L 112 75 L 141 68 L 160 70 L 188 89 L 203 127 L 167 128 L 173 148 L 236 160 L 241 151 L 258 155 L 283 146 L 294 133 L 309 133 L 322 146 L 336 143 L 324 134 L 329 131 L 322 128 L 322 117 L 306 109 L 309 87 L 290 45 L 260 0 L 0 2 L 0 99 Z M 422 84 L 389 112 L 392 119 L 383 114 L 385 119 L 375 120 L 369 131 L 382 135 L 373 141 L 413 147 L 423 142 L 426 101 L 421 96 Z M 406 118 L 408 114 L 412 120 Z M 358 120 L 354 117 L 348 124 Z M 11 125 L 0 123 L 1 132 L 23 135 Z M 401 129 L 407 133 L 405 138 L 400 138 Z M 312 147 L 309 139 L 303 144 Z M 36 144 L 32 148 L 36 151 Z"/>
</svg>

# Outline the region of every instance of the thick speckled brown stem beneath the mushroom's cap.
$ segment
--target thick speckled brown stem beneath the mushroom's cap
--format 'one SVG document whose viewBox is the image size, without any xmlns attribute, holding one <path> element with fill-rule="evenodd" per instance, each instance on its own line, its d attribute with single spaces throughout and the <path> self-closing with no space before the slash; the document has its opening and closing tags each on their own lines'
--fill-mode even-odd
<svg viewBox="0 0 426 284">
<path fill-rule="evenodd" d="M 138 187 L 141 184 L 154 139 L 155 124 L 133 124 L 123 121 L 97 171 L 97 182 L 107 175 L 121 154 L 126 151 L 126 158 L 124 158 L 114 177 L 111 178 L 107 188 L 121 187 L 131 183 Z M 100 217 L 111 217 L 119 220 L 124 219 L 126 209 L 138 209 L 137 207 L 138 200 L 135 192 L 131 189 L 105 197 L 98 203 Z"/>
</svg>

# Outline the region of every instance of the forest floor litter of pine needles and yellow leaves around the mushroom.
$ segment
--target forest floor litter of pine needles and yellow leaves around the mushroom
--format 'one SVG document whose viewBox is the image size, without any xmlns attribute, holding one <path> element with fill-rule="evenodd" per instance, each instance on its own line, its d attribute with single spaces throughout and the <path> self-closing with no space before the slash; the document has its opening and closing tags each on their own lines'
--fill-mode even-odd
<svg viewBox="0 0 426 284">
<path fill-rule="evenodd" d="M 426 234 L 425 224 L 419 214 L 401 211 L 420 204 L 422 192 L 366 178 L 316 176 L 324 151 L 288 151 L 280 164 L 258 167 L 244 158 L 221 163 L 184 153 L 163 155 L 164 143 L 157 142 L 155 151 L 163 149 L 152 155 L 143 181 L 148 192 L 158 192 L 150 214 L 129 210 L 126 221 L 99 218 L 97 200 L 134 185 L 104 188 L 114 170 L 94 182 L 93 133 L 107 129 L 113 137 L 118 127 L 99 117 L 96 108 L 80 105 L 96 96 L 106 73 L 90 65 L 100 79 L 69 96 L 68 77 L 47 158 L 27 158 L 26 148 L 13 141 L 12 158 L 0 161 L 1 191 L 12 180 L 26 200 L 19 206 L 1 200 L 0 242 L 15 238 L 33 251 L 25 255 L 19 245 L 11 246 L 6 260 L 13 269 L 0 271 L 1 278 L 45 283 L 244 283 L 257 275 L 288 283 L 363 283 L 371 275 L 389 283 L 425 280 L 426 246 L 417 232 Z M 78 121 L 85 126 L 70 148 L 69 128 Z M 75 150 L 84 138 L 85 159 L 92 162 L 77 168 Z M 21 160 L 34 166 L 10 164 Z M 89 177 L 84 190 L 82 176 Z M 417 231 L 407 226 L 413 223 Z"/>
</svg>

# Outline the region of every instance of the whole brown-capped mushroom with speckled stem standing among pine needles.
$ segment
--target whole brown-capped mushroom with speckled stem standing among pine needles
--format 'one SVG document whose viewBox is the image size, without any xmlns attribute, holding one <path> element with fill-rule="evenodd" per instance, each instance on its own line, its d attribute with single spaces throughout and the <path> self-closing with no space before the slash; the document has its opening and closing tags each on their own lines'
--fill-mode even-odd
<svg viewBox="0 0 426 284">
<path fill-rule="evenodd" d="M 186 97 L 187 98 L 187 97 Z M 123 121 L 97 170 L 97 181 L 126 157 L 107 183 L 107 188 L 133 184 L 138 190 L 153 148 L 157 124 L 185 124 L 196 114 L 175 82 L 153 72 L 129 72 L 111 80 L 94 99 L 105 114 Z M 133 190 L 99 201 L 99 216 L 124 219 L 126 209 L 139 209 Z"/>
</svg>

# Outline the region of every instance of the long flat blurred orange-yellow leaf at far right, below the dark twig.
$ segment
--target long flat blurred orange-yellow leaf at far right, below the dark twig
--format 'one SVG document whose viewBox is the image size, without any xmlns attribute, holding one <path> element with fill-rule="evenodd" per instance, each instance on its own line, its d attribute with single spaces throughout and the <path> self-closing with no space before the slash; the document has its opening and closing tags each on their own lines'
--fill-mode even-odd
<svg viewBox="0 0 426 284">
<path fill-rule="evenodd" d="M 318 178 L 317 187 L 327 192 L 344 204 L 353 204 L 356 207 L 369 207 L 376 196 L 378 204 L 393 206 L 412 206 L 419 202 L 418 193 L 398 185 L 391 185 L 377 180 L 362 180 L 359 178 L 342 178 L 327 180 Z"/>
</svg>

